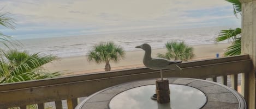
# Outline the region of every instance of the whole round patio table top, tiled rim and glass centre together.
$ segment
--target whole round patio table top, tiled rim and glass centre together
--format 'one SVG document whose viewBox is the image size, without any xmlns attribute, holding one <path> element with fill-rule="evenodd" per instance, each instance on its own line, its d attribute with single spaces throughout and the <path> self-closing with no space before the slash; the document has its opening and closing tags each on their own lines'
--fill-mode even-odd
<svg viewBox="0 0 256 109">
<path fill-rule="evenodd" d="M 151 97 L 157 79 L 128 82 L 90 95 L 76 109 L 198 109 L 246 108 L 243 97 L 234 89 L 216 82 L 166 78 L 169 80 L 170 103 L 159 104 Z"/>
</svg>

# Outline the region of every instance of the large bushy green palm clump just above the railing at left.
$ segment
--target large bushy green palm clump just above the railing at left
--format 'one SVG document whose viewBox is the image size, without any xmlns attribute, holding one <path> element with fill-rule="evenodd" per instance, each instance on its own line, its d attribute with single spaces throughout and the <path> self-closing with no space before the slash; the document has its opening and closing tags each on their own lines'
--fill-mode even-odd
<svg viewBox="0 0 256 109">
<path fill-rule="evenodd" d="M 59 76 L 61 75 L 59 72 L 48 73 L 41 67 L 56 59 L 56 56 L 28 54 L 26 51 L 3 52 L 0 60 L 0 84 Z"/>
</svg>

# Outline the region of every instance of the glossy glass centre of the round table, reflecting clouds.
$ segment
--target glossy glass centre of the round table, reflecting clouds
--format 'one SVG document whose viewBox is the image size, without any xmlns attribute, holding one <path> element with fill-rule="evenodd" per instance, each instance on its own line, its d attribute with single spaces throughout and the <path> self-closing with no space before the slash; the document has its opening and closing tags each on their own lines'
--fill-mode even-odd
<svg viewBox="0 0 256 109">
<path fill-rule="evenodd" d="M 110 109 L 193 109 L 205 105 L 206 95 L 197 88 L 170 84 L 170 104 L 158 104 L 152 100 L 156 85 L 146 85 L 128 89 L 117 94 L 109 102 Z"/>
</svg>

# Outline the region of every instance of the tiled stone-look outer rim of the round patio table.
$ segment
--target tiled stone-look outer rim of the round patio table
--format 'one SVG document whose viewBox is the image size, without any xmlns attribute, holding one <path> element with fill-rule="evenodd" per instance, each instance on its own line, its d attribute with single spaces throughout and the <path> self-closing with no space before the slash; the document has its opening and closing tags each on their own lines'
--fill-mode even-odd
<svg viewBox="0 0 256 109">
<path fill-rule="evenodd" d="M 205 108 L 246 108 L 245 100 L 234 89 L 227 86 L 218 84 L 216 82 L 200 80 L 200 79 L 188 79 L 188 78 L 166 78 L 169 80 L 169 84 L 185 85 L 194 87 L 204 92 L 207 98 L 206 104 L 202 107 Z M 84 101 L 82 101 L 76 109 L 109 109 L 110 100 L 115 95 L 127 91 L 128 89 L 154 85 L 157 79 L 146 79 L 133 82 L 127 82 L 125 84 L 109 87 L 90 95 Z M 184 104 L 186 105 L 186 104 Z"/>
</svg>

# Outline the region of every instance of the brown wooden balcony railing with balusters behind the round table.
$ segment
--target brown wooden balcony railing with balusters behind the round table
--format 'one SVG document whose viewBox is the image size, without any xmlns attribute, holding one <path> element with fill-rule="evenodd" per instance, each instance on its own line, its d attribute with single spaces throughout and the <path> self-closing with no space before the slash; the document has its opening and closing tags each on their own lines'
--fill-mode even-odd
<svg viewBox="0 0 256 109">
<path fill-rule="evenodd" d="M 164 70 L 164 77 L 181 78 L 216 78 L 222 76 L 222 83 L 227 85 L 227 76 L 231 75 L 231 83 L 237 90 L 237 74 L 243 73 L 245 88 L 244 97 L 248 100 L 248 73 L 253 69 L 248 55 L 225 57 L 203 61 L 184 62 L 180 65 L 182 72 Z M 77 98 L 86 97 L 101 89 L 122 84 L 124 82 L 159 78 L 159 71 L 148 68 L 115 70 L 66 76 L 55 79 L 17 82 L 15 84 L 0 85 L 0 109 L 19 106 L 25 109 L 26 105 L 38 104 L 44 108 L 44 102 L 55 101 L 56 108 L 62 108 L 61 100 L 67 100 L 68 108 L 78 104 Z M 216 81 L 216 79 L 213 79 Z"/>
</svg>

